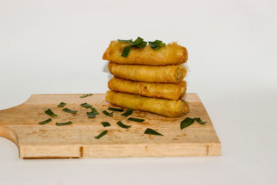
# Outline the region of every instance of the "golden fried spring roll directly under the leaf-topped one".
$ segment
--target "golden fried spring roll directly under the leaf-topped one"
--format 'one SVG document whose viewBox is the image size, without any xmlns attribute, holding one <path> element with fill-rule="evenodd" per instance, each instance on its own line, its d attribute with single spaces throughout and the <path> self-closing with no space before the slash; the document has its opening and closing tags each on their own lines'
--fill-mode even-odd
<svg viewBox="0 0 277 185">
<path fill-rule="evenodd" d="M 177 83 L 186 76 L 186 69 L 182 64 L 146 66 L 109 62 L 108 67 L 109 72 L 118 78 L 141 82 Z"/>
</svg>

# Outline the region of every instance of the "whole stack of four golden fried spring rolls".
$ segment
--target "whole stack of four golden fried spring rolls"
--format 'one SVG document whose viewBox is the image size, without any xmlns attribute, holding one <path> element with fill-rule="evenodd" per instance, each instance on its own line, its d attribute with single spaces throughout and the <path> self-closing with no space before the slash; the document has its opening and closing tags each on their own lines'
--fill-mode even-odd
<svg viewBox="0 0 277 185">
<path fill-rule="evenodd" d="M 153 112 L 163 116 L 178 117 L 189 112 L 188 103 L 182 100 L 186 93 L 186 68 L 188 59 L 185 47 L 175 42 L 153 49 L 151 46 L 130 49 L 127 57 L 121 56 L 130 44 L 111 41 L 102 56 L 109 60 L 109 80 L 106 100 L 109 103 Z"/>
</svg>

